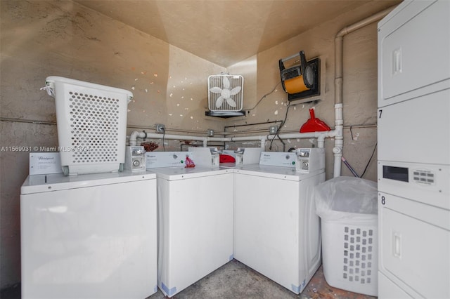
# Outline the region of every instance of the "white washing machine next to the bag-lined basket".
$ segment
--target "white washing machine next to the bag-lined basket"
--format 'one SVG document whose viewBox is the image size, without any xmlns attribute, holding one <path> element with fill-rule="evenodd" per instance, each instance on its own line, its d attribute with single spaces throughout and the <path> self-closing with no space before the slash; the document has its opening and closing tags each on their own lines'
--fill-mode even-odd
<svg viewBox="0 0 450 299">
<path fill-rule="evenodd" d="M 262 152 L 259 165 L 234 171 L 234 258 L 302 292 L 321 264 L 320 222 L 308 194 L 325 180 L 324 150 Z"/>
</svg>

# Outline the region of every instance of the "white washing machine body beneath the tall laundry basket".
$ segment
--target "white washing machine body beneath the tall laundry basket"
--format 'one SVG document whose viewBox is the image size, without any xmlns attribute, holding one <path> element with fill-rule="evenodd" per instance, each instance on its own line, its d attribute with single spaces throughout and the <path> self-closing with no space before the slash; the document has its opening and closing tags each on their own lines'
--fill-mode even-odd
<svg viewBox="0 0 450 299">
<path fill-rule="evenodd" d="M 29 175 L 20 190 L 22 298 L 158 291 L 156 204 L 155 173 Z"/>
</svg>

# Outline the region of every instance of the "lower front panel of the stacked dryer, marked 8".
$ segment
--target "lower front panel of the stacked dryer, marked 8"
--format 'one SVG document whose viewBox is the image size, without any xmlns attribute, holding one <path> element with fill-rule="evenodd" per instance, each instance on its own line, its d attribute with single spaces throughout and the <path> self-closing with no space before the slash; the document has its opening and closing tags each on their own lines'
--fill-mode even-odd
<svg viewBox="0 0 450 299">
<path fill-rule="evenodd" d="M 380 268 L 414 298 L 450 298 L 449 211 L 383 192 L 378 197 Z"/>
</svg>

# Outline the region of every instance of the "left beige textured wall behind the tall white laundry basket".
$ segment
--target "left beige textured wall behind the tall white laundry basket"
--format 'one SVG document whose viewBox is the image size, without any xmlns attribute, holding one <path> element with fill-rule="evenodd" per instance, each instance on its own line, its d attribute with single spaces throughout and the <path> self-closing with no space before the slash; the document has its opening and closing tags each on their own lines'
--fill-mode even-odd
<svg viewBox="0 0 450 299">
<path fill-rule="evenodd" d="M 54 100 L 39 88 L 46 77 L 61 76 L 132 91 L 131 126 L 221 128 L 205 118 L 204 107 L 207 76 L 223 67 L 72 1 L 1 1 L 0 8 L 3 119 L 55 122 Z M 56 126 L 47 124 L 1 121 L 0 129 L 3 288 L 20 281 L 19 199 L 29 153 L 8 147 L 54 147 L 58 138 Z M 167 143 L 179 150 L 181 141 Z"/>
</svg>

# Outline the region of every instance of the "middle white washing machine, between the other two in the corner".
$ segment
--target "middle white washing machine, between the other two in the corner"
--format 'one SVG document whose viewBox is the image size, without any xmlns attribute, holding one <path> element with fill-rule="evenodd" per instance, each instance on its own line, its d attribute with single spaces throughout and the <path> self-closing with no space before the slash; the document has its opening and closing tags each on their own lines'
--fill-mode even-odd
<svg viewBox="0 0 450 299">
<path fill-rule="evenodd" d="M 233 259 L 233 170 L 186 168 L 186 152 L 147 161 L 159 166 L 147 168 L 158 180 L 158 286 L 172 297 Z"/>
</svg>

